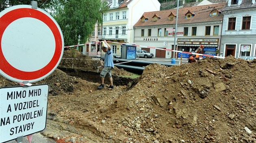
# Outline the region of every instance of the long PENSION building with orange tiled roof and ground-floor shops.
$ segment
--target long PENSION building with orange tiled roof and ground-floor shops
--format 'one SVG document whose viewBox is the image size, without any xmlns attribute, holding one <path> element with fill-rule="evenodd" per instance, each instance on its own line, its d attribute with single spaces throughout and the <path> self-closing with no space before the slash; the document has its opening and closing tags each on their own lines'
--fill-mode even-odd
<svg viewBox="0 0 256 143">
<path fill-rule="evenodd" d="M 171 58 L 175 54 L 165 49 L 192 52 L 204 45 L 204 54 L 218 55 L 221 38 L 222 11 L 226 3 L 192 6 L 143 13 L 134 26 L 135 40 L 140 48 L 153 53 L 155 57 Z M 177 30 L 176 19 L 177 21 Z M 174 39 L 176 31 L 176 47 Z M 156 47 L 144 48 L 143 46 Z M 182 54 L 187 58 L 189 54 Z"/>
</svg>

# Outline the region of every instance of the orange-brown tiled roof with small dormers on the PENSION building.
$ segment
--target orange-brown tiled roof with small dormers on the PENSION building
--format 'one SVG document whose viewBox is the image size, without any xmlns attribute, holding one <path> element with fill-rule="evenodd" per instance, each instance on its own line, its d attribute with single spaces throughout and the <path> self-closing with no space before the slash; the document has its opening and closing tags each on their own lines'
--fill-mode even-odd
<svg viewBox="0 0 256 143">
<path fill-rule="evenodd" d="M 219 3 L 219 4 L 209 4 L 204 6 L 192 6 L 192 7 L 186 7 L 186 8 L 179 8 L 178 23 L 180 24 L 180 23 L 199 23 L 199 22 L 207 22 L 207 21 L 221 21 L 223 19 L 223 15 L 210 17 L 210 11 L 212 11 L 213 8 L 217 8 L 220 11 L 222 11 L 225 5 L 226 3 Z M 193 11 L 193 14 L 195 15 L 192 18 L 186 19 L 185 14 L 188 13 L 188 11 L 191 11 L 191 12 Z M 149 19 L 145 22 L 141 22 L 141 19 L 139 19 L 137 23 L 134 25 L 134 27 L 176 24 L 176 18 L 175 20 L 168 19 L 171 13 L 173 14 L 177 13 L 177 9 L 145 12 L 143 13 L 143 16 L 149 17 Z M 157 21 L 153 21 L 152 17 L 154 15 L 159 15 L 161 19 L 158 19 Z"/>
</svg>

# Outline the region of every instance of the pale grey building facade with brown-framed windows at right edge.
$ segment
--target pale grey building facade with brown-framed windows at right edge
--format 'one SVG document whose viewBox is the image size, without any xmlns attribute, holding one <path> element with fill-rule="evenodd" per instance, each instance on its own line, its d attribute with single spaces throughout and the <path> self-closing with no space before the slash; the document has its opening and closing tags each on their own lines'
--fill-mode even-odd
<svg viewBox="0 0 256 143">
<path fill-rule="evenodd" d="M 256 56 L 256 0 L 228 0 L 223 10 L 220 55 Z"/>
</svg>

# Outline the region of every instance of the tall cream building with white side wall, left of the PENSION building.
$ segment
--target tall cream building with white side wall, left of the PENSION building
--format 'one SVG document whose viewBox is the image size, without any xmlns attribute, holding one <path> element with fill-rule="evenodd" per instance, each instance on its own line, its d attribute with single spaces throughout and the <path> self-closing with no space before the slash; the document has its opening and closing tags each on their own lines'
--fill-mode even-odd
<svg viewBox="0 0 256 143">
<path fill-rule="evenodd" d="M 133 26 L 140 16 L 147 11 L 160 10 L 158 0 L 110 0 L 108 6 L 109 10 L 102 17 L 102 27 L 97 28 L 98 32 L 95 32 L 100 35 L 92 37 L 95 39 L 91 42 L 99 42 L 104 39 L 109 41 L 114 56 L 121 56 L 122 44 L 120 43 L 134 42 Z M 95 45 L 96 53 L 98 50 L 101 51 L 99 44 Z"/>
</svg>

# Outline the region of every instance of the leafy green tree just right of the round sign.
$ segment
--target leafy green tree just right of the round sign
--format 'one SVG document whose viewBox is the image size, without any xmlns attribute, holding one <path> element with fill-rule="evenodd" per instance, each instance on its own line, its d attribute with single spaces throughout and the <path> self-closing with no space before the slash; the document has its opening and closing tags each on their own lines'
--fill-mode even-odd
<svg viewBox="0 0 256 143">
<path fill-rule="evenodd" d="M 108 10 L 102 0 L 68 0 L 57 9 L 54 19 L 63 32 L 65 45 L 87 42 L 95 24 L 102 25 L 102 14 Z"/>
</svg>

